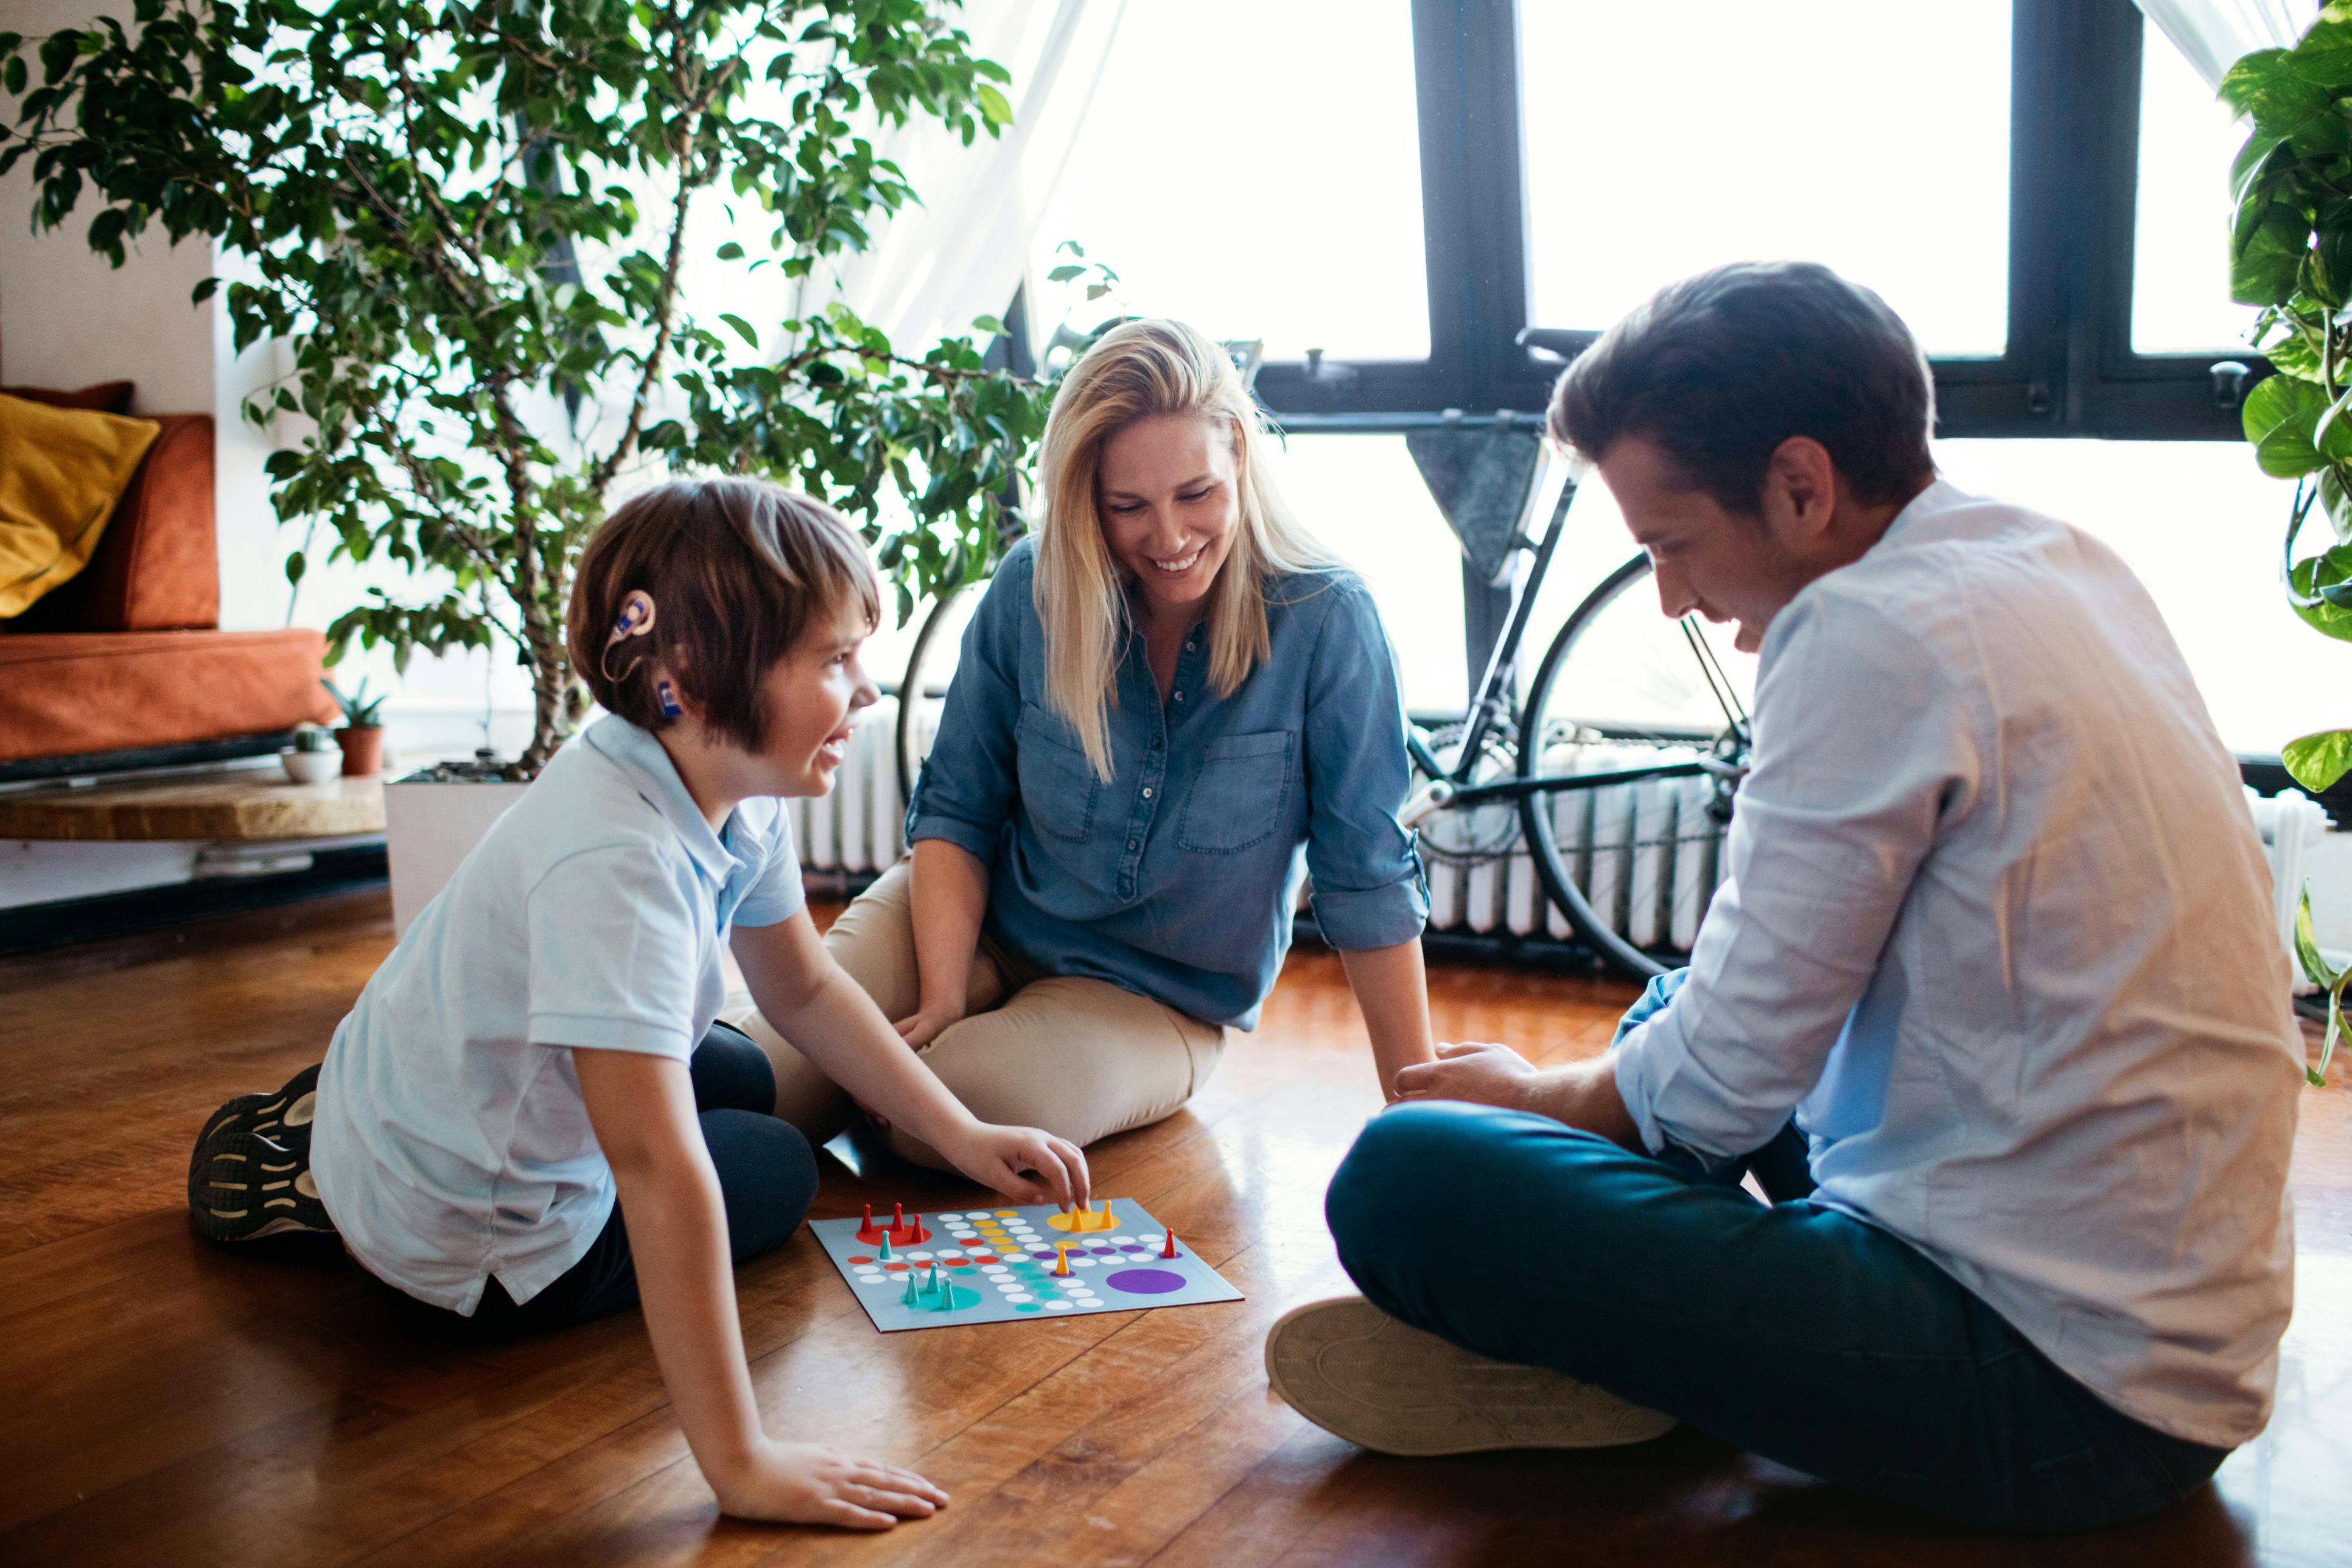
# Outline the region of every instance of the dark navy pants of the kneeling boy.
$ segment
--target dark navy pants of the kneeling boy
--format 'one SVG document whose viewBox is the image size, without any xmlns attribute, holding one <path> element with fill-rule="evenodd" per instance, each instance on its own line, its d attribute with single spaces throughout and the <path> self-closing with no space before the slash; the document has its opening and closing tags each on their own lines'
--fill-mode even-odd
<svg viewBox="0 0 2352 1568">
<path fill-rule="evenodd" d="M 694 1077 L 694 1110 L 703 1143 L 727 1199 L 727 1251 L 736 1265 L 771 1253 L 793 1234 L 816 1199 L 816 1154 L 809 1140 L 769 1114 L 776 1105 L 776 1072 L 748 1034 L 724 1023 L 710 1025 L 687 1063 Z M 541 1333 L 637 1305 L 637 1265 L 628 1251 L 628 1225 L 614 1204 L 612 1220 L 588 1255 L 520 1307 L 492 1279 L 470 1321 L 482 1331 Z"/>
</svg>

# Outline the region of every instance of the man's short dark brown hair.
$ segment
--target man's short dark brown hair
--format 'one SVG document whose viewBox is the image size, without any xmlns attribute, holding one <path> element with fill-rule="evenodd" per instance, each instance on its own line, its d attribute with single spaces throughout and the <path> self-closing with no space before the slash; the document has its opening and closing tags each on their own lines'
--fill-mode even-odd
<svg viewBox="0 0 2352 1568">
<path fill-rule="evenodd" d="M 1809 435 L 1865 503 L 1936 477 L 1936 383 L 1886 301 L 1813 261 L 1733 261 L 1658 289 L 1552 390 L 1552 435 L 1588 458 L 1653 442 L 1755 515 L 1780 442 Z"/>
</svg>

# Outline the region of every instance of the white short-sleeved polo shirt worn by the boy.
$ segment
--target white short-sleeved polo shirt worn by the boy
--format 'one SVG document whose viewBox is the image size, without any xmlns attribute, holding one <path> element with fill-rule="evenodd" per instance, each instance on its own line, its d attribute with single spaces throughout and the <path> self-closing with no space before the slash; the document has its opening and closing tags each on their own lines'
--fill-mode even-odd
<svg viewBox="0 0 2352 1568">
<path fill-rule="evenodd" d="M 729 929 L 802 903 L 783 802 L 746 799 L 713 832 L 652 733 L 588 726 L 334 1032 L 310 1168 L 350 1251 L 466 1316 L 489 1279 L 539 1295 L 614 1206 L 560 1046 L 687 1060 L 727 994 Z"/>
</svg>

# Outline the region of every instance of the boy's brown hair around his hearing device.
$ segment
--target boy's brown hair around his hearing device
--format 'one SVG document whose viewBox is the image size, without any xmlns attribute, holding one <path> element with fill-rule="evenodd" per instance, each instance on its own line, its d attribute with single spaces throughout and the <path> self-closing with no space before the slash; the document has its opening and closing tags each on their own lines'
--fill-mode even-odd
<svg viewBox="0 0 2352 1568">
<path fill-rule="evenodd" d="M 654 628 L 612 642 L 630 592 Z M 880 625 L 875 571 L 849 522 L 762 480 L 670 480 L 630 496 L 588 541 L 572 583 L 572 668 L 630 724 L 663 729 L 654 665 L 748 752 L 767 745 L 760 682 L 804 635 L 856 604 Z"/>
</svg>

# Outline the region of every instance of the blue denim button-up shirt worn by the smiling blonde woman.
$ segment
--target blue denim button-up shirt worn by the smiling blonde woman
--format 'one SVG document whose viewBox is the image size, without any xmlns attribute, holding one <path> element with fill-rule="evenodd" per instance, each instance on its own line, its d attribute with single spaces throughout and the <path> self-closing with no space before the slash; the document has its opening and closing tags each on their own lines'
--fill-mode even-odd
<svg viewBox="0 0 2352 1568">
<path fill-rule="evenodd" d="M 1268 581 L 1272 656 L 1232 696 L 1195 630 L 1162 705 L 1129 630 L 1110 783 L 1047 703 L 1035 545 L 1004 557 L 964 632 L 906 837 L 990 867 L 988 933 L 1047 973 L 1091 976 L 1254 1030 L 1291 945 L 1298 877 L 1334 947 L 1421 936 L 1404 708 L 1388 632 L 1348 571 Z"/>
</svg>

